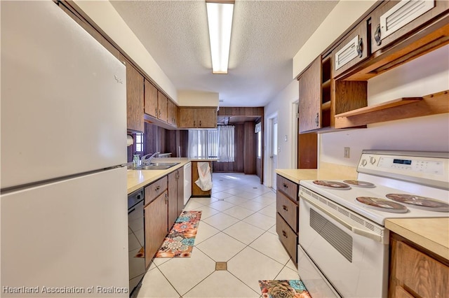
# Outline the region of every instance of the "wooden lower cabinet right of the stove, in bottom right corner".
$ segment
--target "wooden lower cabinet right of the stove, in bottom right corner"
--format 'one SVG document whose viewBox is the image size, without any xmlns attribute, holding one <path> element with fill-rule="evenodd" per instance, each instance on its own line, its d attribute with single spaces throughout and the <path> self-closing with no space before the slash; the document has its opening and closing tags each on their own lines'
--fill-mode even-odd
<svg viewBox="0 0 449 298">
<path fill-rule="evenodd" d="M 449 260 L 394 233 L 390 253 L 389 297 L 449 297 Z"/>
</svg>

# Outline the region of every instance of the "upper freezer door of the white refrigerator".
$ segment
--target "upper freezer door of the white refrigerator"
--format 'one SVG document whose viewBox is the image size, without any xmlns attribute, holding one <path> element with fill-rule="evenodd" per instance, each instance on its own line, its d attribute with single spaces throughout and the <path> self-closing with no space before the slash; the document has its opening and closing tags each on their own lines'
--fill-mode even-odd
<svg viewBox="0 0 449 298">
<path fill-rule="evenodd" d="M 126 163 L 126 67 L 53 1 L 1 1 L 1 188 Z"/>
</svg>

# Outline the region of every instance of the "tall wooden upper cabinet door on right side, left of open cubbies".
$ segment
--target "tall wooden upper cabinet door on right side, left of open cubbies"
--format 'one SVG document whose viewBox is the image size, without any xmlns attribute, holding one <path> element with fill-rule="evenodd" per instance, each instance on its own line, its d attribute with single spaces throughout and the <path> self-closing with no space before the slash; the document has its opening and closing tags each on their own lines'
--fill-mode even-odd
<svg viewBox="0 0 449 298">
<path fill-rule="evenodd" d="M 321 57 L 300 76 L 300 133 L 321 128 Z"/>
</svg>

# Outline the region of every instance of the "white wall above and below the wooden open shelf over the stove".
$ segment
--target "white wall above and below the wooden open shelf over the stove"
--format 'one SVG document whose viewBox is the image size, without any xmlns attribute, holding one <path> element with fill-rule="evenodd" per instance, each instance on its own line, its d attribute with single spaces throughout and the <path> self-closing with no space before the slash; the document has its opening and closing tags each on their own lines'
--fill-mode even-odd
<svg viewBox="0 0 449 298">
<path fill-rule="evenodd" d="M 449 90 L 449 45 L 368 81 L 368 106 Z M 321 134 L 321 162 L 356 166 L 363 149 L 449 152 L 449 114 Z M 350 158 L 343 157 L 344 147 Z"/>
</svg>

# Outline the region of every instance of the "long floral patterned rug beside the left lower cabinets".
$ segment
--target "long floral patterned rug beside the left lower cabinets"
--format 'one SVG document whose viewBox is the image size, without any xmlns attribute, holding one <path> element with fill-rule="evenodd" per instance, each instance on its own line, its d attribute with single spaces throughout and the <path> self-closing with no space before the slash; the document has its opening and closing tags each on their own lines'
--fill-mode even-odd
<svg viewBox="0 0 449 298">
<path fill-rule="evenodd" d="M 182 211 L 154 257 L 190 257 L 201 211 Z"/>
</svg>

